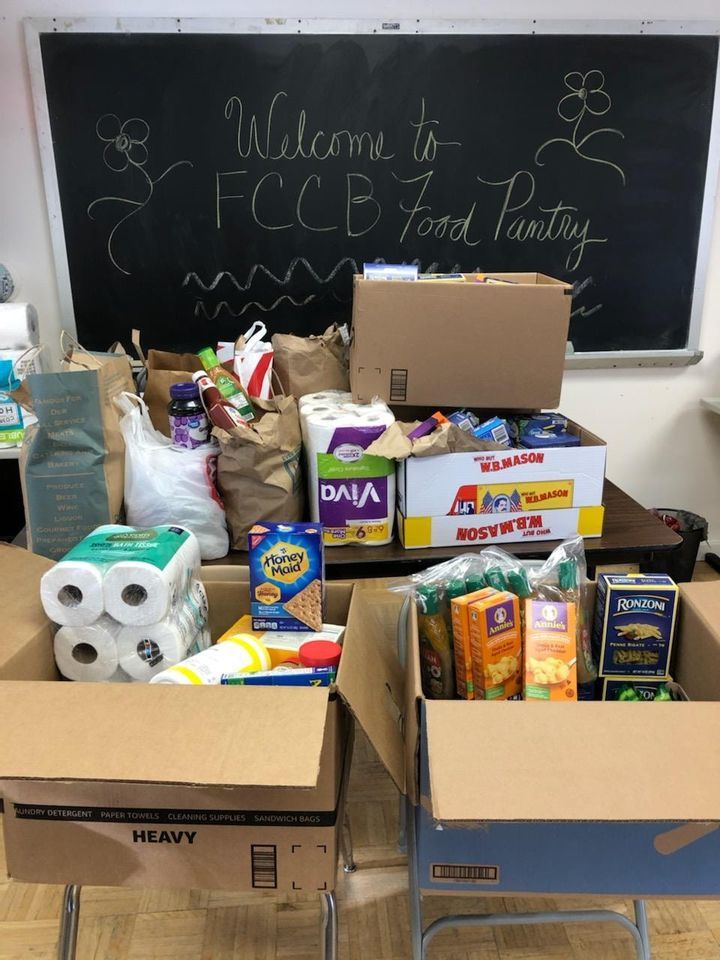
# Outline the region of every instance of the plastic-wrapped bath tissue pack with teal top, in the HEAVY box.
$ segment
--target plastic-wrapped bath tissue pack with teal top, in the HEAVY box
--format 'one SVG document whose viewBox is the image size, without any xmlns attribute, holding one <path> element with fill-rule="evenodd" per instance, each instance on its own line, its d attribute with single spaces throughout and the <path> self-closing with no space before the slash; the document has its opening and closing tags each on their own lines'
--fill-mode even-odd
<svg viewBox="0 0 720 960">
<path fill-rule="evenodd" d="M 183 527 L 93 530 L 40 583 L 68 680 L 149 681 L 210 645 L 200 548 Z"/>
</svg>

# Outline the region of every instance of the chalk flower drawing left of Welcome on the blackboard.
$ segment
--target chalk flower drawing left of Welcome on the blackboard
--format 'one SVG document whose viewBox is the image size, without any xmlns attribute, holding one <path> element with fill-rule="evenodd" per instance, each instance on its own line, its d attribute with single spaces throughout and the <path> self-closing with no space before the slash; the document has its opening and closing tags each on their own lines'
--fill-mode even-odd
<svg viewBox="0 0 720 960">
<path fill-rule="evenodd" d="M 120 217 L 115 223 L 107 241 L 107 252 L 110 262 L 120 273 L 130 276 L 130 271 L 121 267 L 115 258 L 115 252 L 113 250 L 115 233 L 121 224 L 125 223 L 125 221 L 131 217 L 134 217 L 135 214 L 139 213 L 148 205 L 155 191 L 155 185 L 160 183 L 163 177 L 166 177 L 175 167 L 192 167 L 192 163 L 190 160 L 178 160 L 176 163 L 170 164 L 159 177 L 153 179 L 145 169 L 145 164 L 149 158 L 146 143 L 150 137 L 150 126 L 140 117 L 130 117 L 129 120 L 121 123 L 120 118 L 114 113 L 105 113 L 95 124 L 95 133 L 98 139 L 105 144 L 105 148 L 103 149 L 103 163 L 108 170 L 112 170 L 114 173 L 124 173 L 129 168 L 134 168 L 143 178 L 142 189 L 144 196 L 140 199 L 116 196 L 98 197 L 98 199 L 93 200 L 87 208 L 88 216 L 91 220 L 94 220 L 93 210 L 100 203 L 113 201 L 114 203 L 122 203 L 132 207 L 128 213 Z"/>
</svg>

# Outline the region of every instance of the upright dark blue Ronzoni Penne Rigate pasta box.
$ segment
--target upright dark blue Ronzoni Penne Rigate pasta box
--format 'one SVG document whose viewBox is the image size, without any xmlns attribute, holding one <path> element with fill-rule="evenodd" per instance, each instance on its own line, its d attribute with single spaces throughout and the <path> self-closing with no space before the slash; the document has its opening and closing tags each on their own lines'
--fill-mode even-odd
<svg viewBox="0 0 720 960">
<path fill-rule="evenodd" d="M 678 587 L 665 574 L 598 577 L 593 652 L 601 677 L 666 677 Z"/>
</svg>

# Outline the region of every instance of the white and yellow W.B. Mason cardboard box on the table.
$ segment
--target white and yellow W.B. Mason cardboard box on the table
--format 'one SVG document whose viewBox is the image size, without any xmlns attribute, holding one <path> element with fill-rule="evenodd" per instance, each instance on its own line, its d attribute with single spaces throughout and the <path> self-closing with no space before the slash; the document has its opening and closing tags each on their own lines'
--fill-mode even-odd
<svg viewBox="0 0 720 960">
<path fill-rule="evenodd" d="M 602 533 L 605 442 L 580 424 L 579 447 L 408 457 L 397 467 L 403 546 L 563 540 Z"/>
</svg>

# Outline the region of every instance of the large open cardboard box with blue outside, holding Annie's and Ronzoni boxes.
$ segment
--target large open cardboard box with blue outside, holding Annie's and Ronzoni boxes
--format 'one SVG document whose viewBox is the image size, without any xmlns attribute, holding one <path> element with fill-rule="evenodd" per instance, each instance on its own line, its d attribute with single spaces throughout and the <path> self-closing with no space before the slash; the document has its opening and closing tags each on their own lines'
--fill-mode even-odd
<svg viewBox="0 0 720 960">
<path fill-rule="evenodd" d="M 663 706 L 426 701 L 406 614 L 356 589 L 346 667 L 382 668 L 363 708 L 414 804 L 422 890 L 720 896 L 720 583 L 682 586 L 675 676 L 695 702 Z"/>
</svg>

